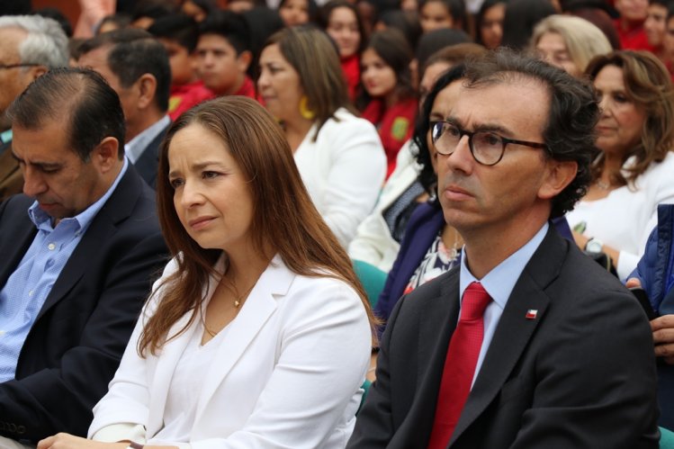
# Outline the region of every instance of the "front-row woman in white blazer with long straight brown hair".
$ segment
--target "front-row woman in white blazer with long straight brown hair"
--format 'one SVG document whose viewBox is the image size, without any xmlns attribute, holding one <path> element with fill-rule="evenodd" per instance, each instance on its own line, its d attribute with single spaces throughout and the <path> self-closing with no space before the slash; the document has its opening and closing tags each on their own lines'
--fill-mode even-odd
<svg viewBox="0 0 674 449">
<path fill-rule="evenodd" d="M 240 96 L 184 113 L 157 202 L 174 258 L 94 408 L 92 440 L 38 447 L 344 447 L 372 313 L 272 116 Z"/>
</svg>

